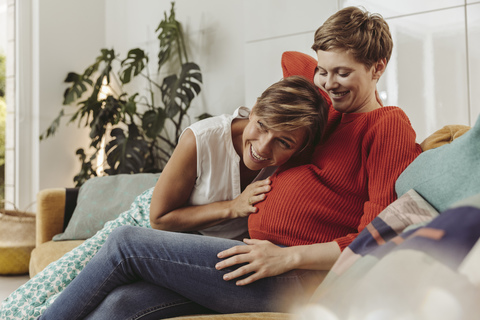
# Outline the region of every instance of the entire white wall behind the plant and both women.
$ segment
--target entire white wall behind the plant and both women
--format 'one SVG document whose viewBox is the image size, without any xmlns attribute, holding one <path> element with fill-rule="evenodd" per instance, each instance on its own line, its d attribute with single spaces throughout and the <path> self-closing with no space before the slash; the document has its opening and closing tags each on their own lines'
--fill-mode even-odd
<svg viewBox="0 0 480 320">
<path fill-rule="evenodd" d="M 154 51 L 154 31 L 170 10 L 170 0 L 36 2 L 39 118 L 32 121 L 38 121 L 40 132 L 61 108 L 68 71 L 83 71 L 102 47 L 121 54 L 138 46 Z M 474 124 L 480 113 L 480 2 L 473 0 L 177 0 L 190 58 L 204 75 L 193 114 L 251 106 L 282 76 L 281 53 L 314 56 L 314 31 L 346 5 L 379 12 L 391 26 L 395 51 L 379 90 L 386 104 L 407 112 L 419 142 L 446 124 Z M 73 186 L 79 169 L 74 153 L 88 143 L 85 135 L 74 125 L 63 126 L 55 138 L 39 144 L 40 173 L 37 182 L 32 180 L 33 190 Z"/>
</svg>

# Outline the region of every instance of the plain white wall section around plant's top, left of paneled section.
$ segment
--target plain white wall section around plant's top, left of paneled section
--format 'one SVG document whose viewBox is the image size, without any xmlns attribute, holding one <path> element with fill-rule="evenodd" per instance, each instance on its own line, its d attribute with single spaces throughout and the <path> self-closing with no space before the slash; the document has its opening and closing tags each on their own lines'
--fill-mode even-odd
<svg viewBox="0 0 480 320">
<path fill-rule="evenodd" d="M 123 57 L 129 49 L 149 53 L 157 70 L 155 32 L 170 0 L 106 0 L 106 46 Z M 244 27 L 242 0 L 177 0 L 175 13 L 189 45 L 189 59 L 203 75 L 203 93 L 193 102 L 192 119 L 204 112 L 230 113 L 244 101 Z M 163 70 L 163 69 L 162 69 Z"/>
</svg>

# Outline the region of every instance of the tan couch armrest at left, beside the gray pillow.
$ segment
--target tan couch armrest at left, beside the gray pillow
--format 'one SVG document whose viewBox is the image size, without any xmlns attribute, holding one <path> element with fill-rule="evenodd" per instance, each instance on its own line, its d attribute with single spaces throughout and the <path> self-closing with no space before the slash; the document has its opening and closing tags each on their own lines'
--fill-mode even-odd
<svg viewBox="0 0 480 320">
<path fill-rule="evenodd" d="M 65 193 L 65 188 L 52 188 L 37 194 L 36 246 L 63 232 Z"/>
</svg>

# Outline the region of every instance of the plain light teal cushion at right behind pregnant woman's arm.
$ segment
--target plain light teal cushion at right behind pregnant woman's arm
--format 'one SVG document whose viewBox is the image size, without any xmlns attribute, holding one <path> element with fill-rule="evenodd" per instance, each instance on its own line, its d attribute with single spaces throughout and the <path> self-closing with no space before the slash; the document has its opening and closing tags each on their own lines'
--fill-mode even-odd
<svg viewBox="0 0 480 320">
<path fill-rule="evenodd" d="M 414 189 L 439 212 L 480 193 L 480 116 L 452 143 L 420 154 L 398 177 L 395 188 L 399 197 Z"/>
</svg>

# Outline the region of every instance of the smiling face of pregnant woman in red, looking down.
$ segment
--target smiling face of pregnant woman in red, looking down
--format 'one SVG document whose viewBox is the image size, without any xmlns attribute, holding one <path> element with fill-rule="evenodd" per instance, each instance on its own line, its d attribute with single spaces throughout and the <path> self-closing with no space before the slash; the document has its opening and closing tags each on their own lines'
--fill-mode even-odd
<svg viewBox="0 0 480 320">
<path fill-rule="evenodd" d="M 369 112 L 380 107 L 375 97 L 376 84 L 384 65 L 377 62 L 367 69 L 352 54 L 341 49 L 317 51 L 315 84 L 325 90 L 335 110 L 343 113 Z"/>
</svg>

